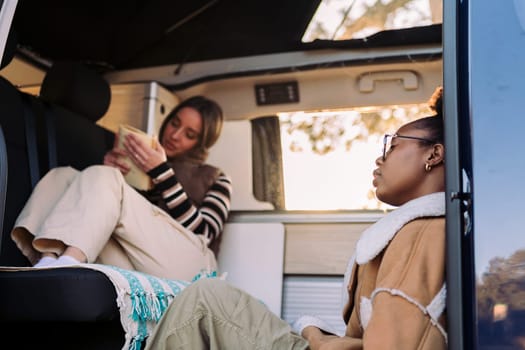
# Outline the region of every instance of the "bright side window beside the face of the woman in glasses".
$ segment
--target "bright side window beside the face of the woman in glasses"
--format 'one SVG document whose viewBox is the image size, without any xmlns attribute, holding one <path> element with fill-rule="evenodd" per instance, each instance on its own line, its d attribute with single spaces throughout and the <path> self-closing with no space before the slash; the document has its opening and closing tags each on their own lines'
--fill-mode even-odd
<svg viewBox="0 0 525 350">
<path fill-rule="evenodd" d="M 286 210 L 386 210 L 372 172 L 383 135 L 429 115 L 427 104 L 280 113 Z"/>
</svg>

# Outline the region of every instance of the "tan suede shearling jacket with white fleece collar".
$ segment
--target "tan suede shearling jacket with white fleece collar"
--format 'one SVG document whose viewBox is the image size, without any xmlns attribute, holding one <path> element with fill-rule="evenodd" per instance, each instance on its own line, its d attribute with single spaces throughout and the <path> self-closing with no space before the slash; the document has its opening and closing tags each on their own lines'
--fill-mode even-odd
<svg viewBox="0 0 525 350">
<path fill-rule="evenodd" d="M 358 242 L 343 310 L 347 349 L 447 348 L 444 197 L 411 204 L 416 213 L 394 211 Z"/>
</svg>

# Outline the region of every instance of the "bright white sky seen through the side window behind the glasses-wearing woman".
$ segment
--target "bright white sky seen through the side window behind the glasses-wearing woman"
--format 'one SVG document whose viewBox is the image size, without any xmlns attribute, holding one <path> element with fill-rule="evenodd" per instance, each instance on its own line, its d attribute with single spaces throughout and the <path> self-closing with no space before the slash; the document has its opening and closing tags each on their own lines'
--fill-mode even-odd
<svg viewBox="0 0 525 350">
<path fill-rule="evenodd" d="M 383 150 L 384 133 L 395 132 L 397 127 L 394 130 L 376 131 L 365 140 L 358 140 L 357 135 L 366 136 L 362 134 L 364 124 L 361 124 L 361 118 L 366 116 L 361 117 L 359 110 L 361 109 L 296 112 L 289 115 L 296 123 L 313 117 L 337 117 L 339 126 L 344 128 L 345 134 L 341 136 L 339 144 L 334 144 L 334 151 L 319 155 L 311 150 L 310 141 L 304 132 L 289 134 L 285 127 L 281 129 L 287 209 L 385 210 L 392 208 L 375 198 L 372 172 L 376 168 L 375 160 Z M 367 111 L 379 113 L 389 120 L 389 123 L 401 125 L 426 113 L 427 109 L 417 108 L 417 105 L 396 105 L 390 108 L 369 106 Z M 282 113 L 280 116 L 286 119 L 288 114 Z M 337 133 L 338 129 L 334 128 L 334 130 Z M 347 140 L 352 140 L 349 150 L 345 145 Z M 292 141 L 299 144 L 302 151 L 291 151 Z"/>
</svg>

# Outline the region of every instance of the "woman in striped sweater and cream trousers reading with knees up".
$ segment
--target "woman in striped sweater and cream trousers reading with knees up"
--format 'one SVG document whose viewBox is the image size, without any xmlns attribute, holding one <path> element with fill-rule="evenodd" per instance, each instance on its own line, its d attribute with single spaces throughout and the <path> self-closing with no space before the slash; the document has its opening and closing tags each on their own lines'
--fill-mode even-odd
<svg viewBox="0 0 525 350">
<path fill-rule="evenodd" d="M 185 280 L 215 269 L 209 245 L 228 217 L 231 180 L 205 160 L 222 123 L 220 106 L 195 96 L 166 117 L 153 147 L 131 133 L 104 165 L 52 169 L 20 213 L 13 240 L 35 267 L 96 262 Z M 151 189 L 126 182 L 129 161 L 151 178 Z"/>
</svg>

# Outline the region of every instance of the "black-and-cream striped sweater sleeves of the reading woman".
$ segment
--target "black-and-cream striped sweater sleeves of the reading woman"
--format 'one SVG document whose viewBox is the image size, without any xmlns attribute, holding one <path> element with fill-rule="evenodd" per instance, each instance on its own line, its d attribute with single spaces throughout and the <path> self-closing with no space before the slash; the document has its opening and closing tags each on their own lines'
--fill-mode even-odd
<svg viewBox="0 0 525 350">
<path fill-rule="evenodd" d="M 148 175 L 175 220 L 195 234 L 205 235 L 210 243 L 219 237 L 230 211 L 232 183 L 228 175 L 219 174 L 200 206 L 192 203 L 167 162 L 150 170 Z"/>
</svg>

